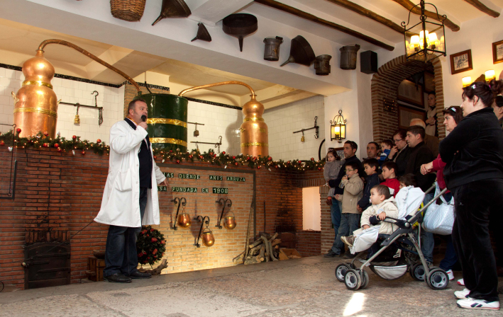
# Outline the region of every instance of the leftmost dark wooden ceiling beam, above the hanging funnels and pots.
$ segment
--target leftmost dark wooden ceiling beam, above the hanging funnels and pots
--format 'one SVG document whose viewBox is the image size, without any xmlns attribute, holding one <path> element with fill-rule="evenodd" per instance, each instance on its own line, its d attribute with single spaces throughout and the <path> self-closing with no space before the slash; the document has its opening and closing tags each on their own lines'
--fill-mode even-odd
<svg viewBox="0 0 503 317">
<path fill-rule="evenodd" d="M 334 30 L 341 31 L 343 33 L 354 36 L 355 38 L 359 38 L 360 40 L 365 40 L 373 45 L 377 45 L 378 47 L 382 47 L 385 50 L 392 51 L 394 47 L 391 45 L 387 45 L 385 42 L 381 42 L 380 40 L 376 40 L 375 38 L 370 38 L 370 36 L 362 34 L 358 31 L 351 30 L 350 28 L 346 28 L 346 26 L 333 23 L 331 21 L 326 21 L 322 18 L 318 18 L 311 13 L 307 13 L 299 10 L 298 8 L 294 8 L 293 6 L 287 6 L 286 4 L 282 4 L 281 2 L 275 0 L 255 0 L 255 2 L 259 4 L 263 4 L 265 6 L 270 6 L 271 8 L 276 8 L 277 10 L 287 12 L 293 14 L 294 16 L 298 16 L 299 18 L 304 18 L 308 21 L 318 23 L 321 25 L 328 26 L 328 28 L 333 28 Z"/>
</svg>

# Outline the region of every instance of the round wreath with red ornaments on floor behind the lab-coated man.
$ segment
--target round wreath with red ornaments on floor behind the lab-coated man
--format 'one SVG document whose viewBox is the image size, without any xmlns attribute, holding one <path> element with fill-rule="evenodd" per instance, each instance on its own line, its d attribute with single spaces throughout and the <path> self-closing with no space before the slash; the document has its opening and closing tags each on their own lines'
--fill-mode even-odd
<svg viewBox="0 0 503 317">
<path fill-rule="evenodd" d="M 138 263 L 150 264 L 152 266 L 162 258 L 166 250 L 166 240 L 159 230 L 152 226 L 142 226 L 142 231 L 136 240 L 136 252 L 138 252 Z"/>
</svg>

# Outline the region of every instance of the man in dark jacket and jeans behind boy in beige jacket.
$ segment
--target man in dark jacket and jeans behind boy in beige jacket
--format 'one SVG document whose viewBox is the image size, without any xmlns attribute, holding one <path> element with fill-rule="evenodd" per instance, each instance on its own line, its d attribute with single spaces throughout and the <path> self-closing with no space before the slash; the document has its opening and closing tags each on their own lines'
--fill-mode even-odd
<svg viewBox="0 0 503 317">
<path fill-rule="evenodd" d="M 344 142 L 344 158 L 346 159 L 346 162 L 343 164 L 341 167 L 341 171 L 339 171 L 339 174 L 335 180 L 328 180 L 328 185 L 331 188 L 336 188 L 335 194 L 343 194 L 344 189 L 339 188 L 339 184 L 341 184 L 341 180 L 344 175 L 346 175 L 346 164 L 350 162 L 356 162 L 358 164 L 358 175 L 364 175 L 363 173 L 363 166 L 362 162 L 356 157 L 356 150 L 358 149 L 358 145 L 353 142 L 353 141 L 346 141 Z M 335 195 L 334 194 L 334 195 Z M 333 224 L 333 229 L 336 231 L 336 237 L 333 239 L 333 246 L 332 248 L 326 253 L 324 256 L 325 258 L 333 258 L 339 254 L 343 254 L 344 251 L 342 250 L 341 253 L 336 253 L 335 250 L 339 250 L 336 247 L 336 238 L 337 238 L 337 233 L 339 230 L 339 226 L 341 225 L 341 217 L 342 217 L 342 204 L 338 202 L 338 200 L 332 200 L 332 205 L 330 206 L 330 214 L 331 214 L 331 219 L 332 219 L 332 224 Z"/>
</svg>

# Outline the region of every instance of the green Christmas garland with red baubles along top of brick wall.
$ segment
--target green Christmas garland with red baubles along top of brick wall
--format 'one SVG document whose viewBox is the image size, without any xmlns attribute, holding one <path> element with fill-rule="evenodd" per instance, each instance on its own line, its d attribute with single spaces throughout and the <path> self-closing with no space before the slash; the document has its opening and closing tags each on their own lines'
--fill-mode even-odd
<svg viewBox="0 0 503 317">
<path fill-rule="evenodd" d="M 6 144 L 12 144 L 14 138 L 14 144 L 16 148 L 28 149 L 34 148 L 38 149 L 41 147 L 55 148 L 58 152 L 72 152 L 75 155 L 75 151 L 80 151 L 80 154 L 85 155 L 86 151 L 92 150 L 96 154 L 109 155 L 110 146 L 106 145 L 105 142 L 101 142 L 97 139 L 96 142 L 90 142 L 87 139 L 81 140 L 80 137 L 73 136 L 72 139 L 65 139 L 60 137 L 58 134 L 55 139 L 48 137 L 48 132 L 38 132 L 35 137 L 19 137 L 21 129 L 16 129 L 16 133 L 9 131 L 6 134 L 0 133 L 0 146 L 5 146 Z M 209 162 L 214 165 L 223 166 L 227 168 L 228 166 L 248 166 L 250 168 L 267 168 L 270 171 L 273 169 L 281 171 L 321 171 L 325 165 L 325 159 L 320 161 L 315 161 L 314 158 L 310 160 L 273 160 L 270 156 L 249 156 L 249 155 L 229 155 L 225 151 L 220 154 L 216 154 L 213 149 L 208 152 L 201 153 L 199 149 L 194 149 L 192 151 L 182 152 L 179 149 L 175 151 L 170 149 L 154 149 L 154 159 L 160 159 L 162 163 L 165 161 L 172 161 L 175 163 L 182 162 Z"/>
</svg>

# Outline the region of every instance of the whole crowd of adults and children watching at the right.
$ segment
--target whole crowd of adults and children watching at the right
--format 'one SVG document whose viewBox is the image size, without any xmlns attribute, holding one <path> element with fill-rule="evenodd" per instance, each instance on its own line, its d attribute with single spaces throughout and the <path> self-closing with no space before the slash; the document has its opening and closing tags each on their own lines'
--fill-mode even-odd
<svg viewBox="0 0 503 317">
<path fill-rule="evenodd" d="M 426 122 L 413 119 L 408 129 L 398 129 L 392 139 L 367 144 L 367 158 L 356 157 L 358 145 L 346 141 L 344 157 L 330 150 L 324 177 L 330 190 L 327 204 L 336 238 L 326 258 L 343 255 L 345 244 L 372 224 L 382 224 L 380 233 L 391 234 L 391 224 L 380 222 L 396 217 L 394 196 L 413 185 L 426 192 L 435 182 L 447 189 L 443 200 L 454 200 L 452 234 L 442 236 L 446 252 L 439 267 L 454 279 L 458 262 L 463 278 L 455 292 L 458 306 L 466 309 L 499 309 L 497 277 L 503 276 L 503 233 L 497 229 L 503 215 L 503 82 L 475 82 L 463 88 L 463 103 L 443 110 L 448 132 L 438 140 L 436 96 L 429 94 Z M 434 190 L 424 197 L 433 200 Z M 496 257 L 490 229 L 496 241 Z M 382 231 L 382 232 L 381 232 Z M 433 265 L 433 234 L 421 231 L 421 252 Z M 498 260 L 498 263 L 496 262 Z"/>
</svg>

